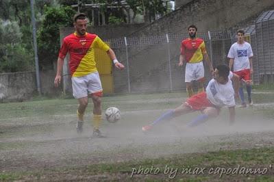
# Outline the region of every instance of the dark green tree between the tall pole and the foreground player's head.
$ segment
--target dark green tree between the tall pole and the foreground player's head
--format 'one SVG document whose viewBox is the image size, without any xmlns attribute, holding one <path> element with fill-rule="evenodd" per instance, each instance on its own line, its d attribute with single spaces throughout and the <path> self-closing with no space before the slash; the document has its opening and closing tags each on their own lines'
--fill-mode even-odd
<svg viewBox="0 0 274 182">
<path fill-rule="evenodd" d="M 45 7 L 45 14 L 38 29 L 38 57 L 42 69 L 52 69 L 60 49 L 60 27 L 73 26 L 75 10 L 71 7 Z"/>
</svg>

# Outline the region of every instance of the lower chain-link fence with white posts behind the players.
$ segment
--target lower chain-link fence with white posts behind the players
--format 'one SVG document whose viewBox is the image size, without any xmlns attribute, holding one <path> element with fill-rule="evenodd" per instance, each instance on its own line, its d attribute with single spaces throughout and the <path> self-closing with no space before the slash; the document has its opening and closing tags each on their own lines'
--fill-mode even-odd
<svg viewBox="0 0 274 182">
<path fill-rule="evenodd" d="M 197 35 L 206 42 L 213 66 L 227 64 L 232 44 L 230 31 L 208 31 Z M 181 42 L 188 34 L 129 37 L 108 40 L 119 60 L 125 64 L 123 73 L 114 70 L 115 92 L 161 92 L 184 90 L 183 67 L 178 66 Z M 208 65 L 206 77 L 209 81 Z"/>
</svg>

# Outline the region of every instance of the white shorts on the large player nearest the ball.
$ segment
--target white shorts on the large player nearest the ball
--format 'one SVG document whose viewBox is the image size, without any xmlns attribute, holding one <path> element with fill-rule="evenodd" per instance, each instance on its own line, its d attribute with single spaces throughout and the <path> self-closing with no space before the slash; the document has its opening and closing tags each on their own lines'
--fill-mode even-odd
<svg viewBox="0 0 274 182">
<path fill-rule="evenodd" d="M 103 91 L 98 72 L 90 73 L 89 75 L 85 75 L 83 77 L 71 77 L 71 83 L 73 86 L 73 96 L 75 99 L 80 99 L 88 96 L 88 94 Z"/>
</svg>

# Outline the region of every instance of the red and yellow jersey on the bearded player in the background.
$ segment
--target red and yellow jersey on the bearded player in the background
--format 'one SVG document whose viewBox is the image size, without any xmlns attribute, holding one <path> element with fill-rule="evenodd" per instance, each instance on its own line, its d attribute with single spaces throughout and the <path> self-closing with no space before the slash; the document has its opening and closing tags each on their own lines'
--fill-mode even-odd
<svg viewBox="0 0 274 182">
<path fill-rule="evenodd" d="M 206 53 L 206 44 L 203 39 L 196 38 L 192 40 L 190 38 L 187 38 L 182 41 L 181 55 L 186 56 L 186 62 L 202 62 L 204 53 Z"/>
</svg>

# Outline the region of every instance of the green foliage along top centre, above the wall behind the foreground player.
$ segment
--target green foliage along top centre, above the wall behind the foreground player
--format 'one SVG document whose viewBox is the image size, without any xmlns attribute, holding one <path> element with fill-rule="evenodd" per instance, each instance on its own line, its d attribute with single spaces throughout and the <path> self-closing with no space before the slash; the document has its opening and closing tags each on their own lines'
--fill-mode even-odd
<svg viewBox="0 0 274 182">
<path fill-rule="evenodd" d="M 145 15 L 145 22 L 149 23 L 155 21 L 157 16 L 166 14 L 167 6 L 162 0 L 126 0 L 127 5 L 122 3 L 121 0 L 110 1 L 110 0 L 82 0 L 79 1 L 80 12 L 85 12 L 88 15 L 93 25 L 101 25 L 100 19 L 105 18 L 106 24 L 117 24 L 117 23 L 133 23 L 134 18 L 137 14 Z M 65 1 L 59 0 L 62 5 L 77 5 L 78 1 Z M 99 4 L 99 8 L 91 8 L 85 6 L 85 4 Z M 107 8 L 107 7 L 119 6 L 119 8 Z M 77 8 L 75 8 L 77 10 Z M 93 11 L 93 12 L 92 12 Z M 133 14 L 131 14 L 133 12 Z M 100 14 L 104 14 L 101 17 Z M 94 16 L 94 17 L 92 17 Z"/>
</svg>

